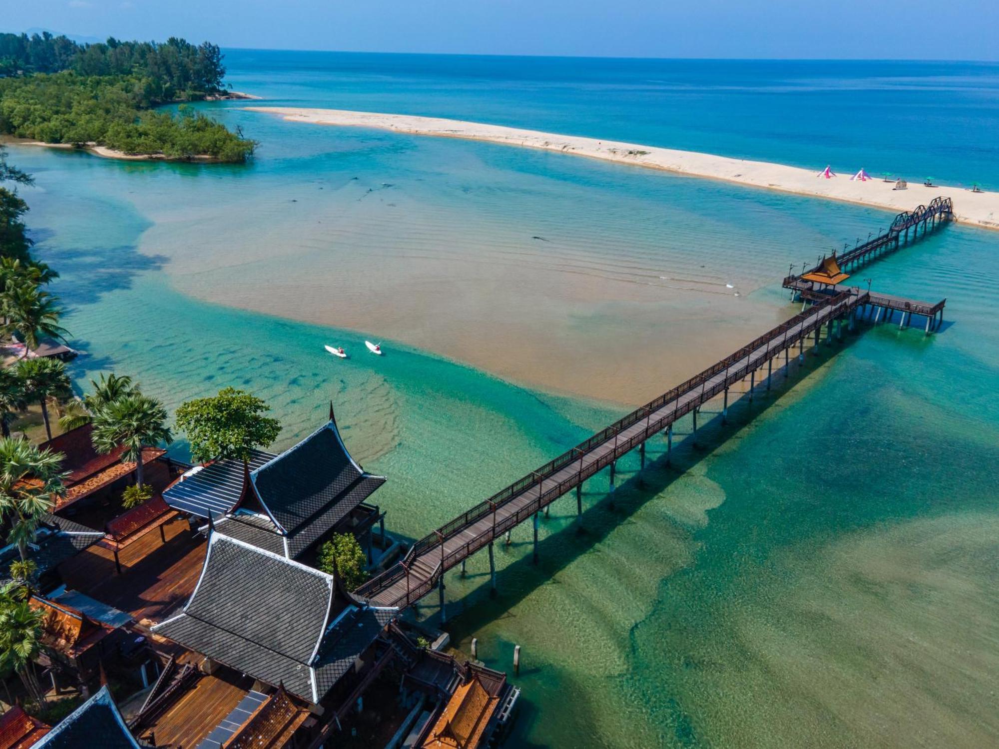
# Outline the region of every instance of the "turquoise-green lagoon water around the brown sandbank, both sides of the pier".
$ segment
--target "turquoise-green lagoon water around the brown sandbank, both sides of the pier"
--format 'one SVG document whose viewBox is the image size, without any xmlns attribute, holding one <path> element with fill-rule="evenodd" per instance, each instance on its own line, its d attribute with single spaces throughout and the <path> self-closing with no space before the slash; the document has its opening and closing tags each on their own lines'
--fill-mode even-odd
<svg viewBox="0 0 999 749">
<path fill-rule="evenodd" d="M 317 134 L 317 148 L 328 137 Z M 164 254 L 144 252 L 150 234 L 165 246 L 171 229 L 179 244 L 191 242 L 187 207 L 207 213 L 225 201 L 225 170 L 13 154 L 36 174 L 31 226 L 39 253 L 63 272 L 67 325 L 89 353 L 73 366 L 78 381 L 129 373 L 171 408 L 246 386 L 286 424 L 279 446 L 314 428 L 332 397 L 352 450 L 389 476 L 377 500 L 392 529 L 422 535 L 623 410 L 391 342 L 380 360 L 327 359 L 324 343 L 361 352 L 364 337 L 195 301 L 164 272 Z M 259 169 L 277 181 L 276 161 L 262 158 Z M 509 162 L 497 169 L 512 182 L 524 172 Z M 285 184 L 302 175 L 293 170 Z M 820 217 L 817 235 L 783 235 L 800 237 L 800 248 L 781 251 L 795 259 L 880 218 L 748 191 L 741 201 L 765 211 L 760 220 L 778 237 L 802 206 Z M 228 219 L 239 227 L 255 217 Z M 784 259 L 725 247 L 718 258 L 760 277 L 754 302 L 789 314 L 763 280 L 781 275 Z M 792 368 L 789 389 L 776 375 L 769 395 L 760 389 L 751 405 L 732 408 L 729 426 L 709 422 L 699 448 L 684 440 L 672 468 L 663 445 L 652 445 L 644 488 L 636 457 L 622 461 L 627 480 L 613 510 L 606 476 L 595 477 L 585 533 L 568 527 L 574 501 L 565 497 L 542 521 L 538 567 L 529 527 L 500 548 L 496 600 L 485 558 L 470 562 L 465 579 L 449 575 L 460 647 L 478 637 L 487 663 L 503 669 L 513 644 L 523 647 L 512 746 L 999 741 L 997 249 L 995 234 L 948 227 L 858 273 L 888 292 L 947 297 L 944 330 L 924 338 L 881 326 L 834 358 Z M 775 272 L 760 268 L 768 265 Z M 435 597 L 422 609 L 433 620 Z"/>
</svg>

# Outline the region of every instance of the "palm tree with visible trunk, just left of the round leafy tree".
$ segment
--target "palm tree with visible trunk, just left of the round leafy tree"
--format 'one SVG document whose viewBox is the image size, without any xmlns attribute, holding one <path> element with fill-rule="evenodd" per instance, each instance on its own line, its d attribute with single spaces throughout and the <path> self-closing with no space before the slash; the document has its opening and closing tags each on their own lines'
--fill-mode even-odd
<svg viewBox="0 0 999 749">
<path fill-rule="evenodd" d="M 136 483 L 142 485 L 142 449 L 174 437 L 167 426 L 167 409 L 159 400 L 135 392 L 112 400 L 94 414 L 94 446 L 100 452 L 125 447 L 122 457 L 135 462 Z"/>
</svg>

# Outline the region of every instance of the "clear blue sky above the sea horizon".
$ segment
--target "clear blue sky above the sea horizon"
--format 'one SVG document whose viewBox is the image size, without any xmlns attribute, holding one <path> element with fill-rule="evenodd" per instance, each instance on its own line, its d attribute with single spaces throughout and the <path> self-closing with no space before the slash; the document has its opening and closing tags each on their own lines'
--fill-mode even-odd
<svg viewBox="0 0 999 749">
<path fill-rule="evenodd" d="M 0 30 L 223 47 L 999 59 L 999 0 L 0 0 Z"/>
</svg>

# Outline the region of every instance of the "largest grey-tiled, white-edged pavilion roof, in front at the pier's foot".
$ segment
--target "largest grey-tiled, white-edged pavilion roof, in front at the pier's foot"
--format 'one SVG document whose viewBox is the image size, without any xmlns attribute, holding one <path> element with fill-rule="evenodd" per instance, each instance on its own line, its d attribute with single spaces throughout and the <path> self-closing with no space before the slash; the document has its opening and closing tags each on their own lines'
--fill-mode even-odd
<svg viewBox="0 0 999 749">
<path fill-rule="evenodd" d="M 381 635 L 398 612 L 352 596 L 333 575 L 216 531 L 191 599 L 152 631 L 340 714 L 391 660 Z"/>
</svg>

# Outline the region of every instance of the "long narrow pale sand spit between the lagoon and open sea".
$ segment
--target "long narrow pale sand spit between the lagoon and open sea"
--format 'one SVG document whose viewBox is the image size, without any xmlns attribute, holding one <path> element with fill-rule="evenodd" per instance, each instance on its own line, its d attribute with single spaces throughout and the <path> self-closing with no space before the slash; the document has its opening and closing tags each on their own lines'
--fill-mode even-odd
<svg viewBox="0 0 999 749">
<path fill-rule="evenodd" d="M 886 183 L 877 178 L 866 182 L 851 182 L 849 174 L 840 174 L 833 179 L 822 179 L 811 170 L 783 164 L 438 117 L 300 107 L 243 107 L 243 109 L 278 115 L 288 122 L 375 128 L 409 135 L 459 138 L 554 151 L 615 164 L 658 169 L 689 177 L 721 180 L 746 187 L 776 190 L 896 212 L 911 211 L 919 204 L 929 203 L 938 195 L 945 195 L 954 200 L 954 218 L 959 223 L 999 230 L 999 193 L 994 192 L 973 193 L 966 188 L 944 185 L 927 188 L 918 183 L 910 184 L 907 190 L 894 190 L 894 182 Z"/>
</svg>

